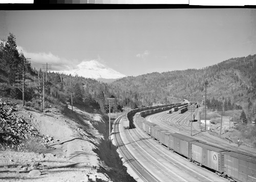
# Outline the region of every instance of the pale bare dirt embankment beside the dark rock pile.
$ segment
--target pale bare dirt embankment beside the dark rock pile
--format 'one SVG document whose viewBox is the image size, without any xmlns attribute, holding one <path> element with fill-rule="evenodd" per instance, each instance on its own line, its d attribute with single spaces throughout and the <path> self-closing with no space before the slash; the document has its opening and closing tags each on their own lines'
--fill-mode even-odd
<svg viewBox="0 0 256 182">
<path fill-rule="evenodd" d="M 100 171 L 97 146 L 103 136 L 92 126 L 103 122 L 98 114 L 75 108 L 80 120 L 72 120 L 51 109 L 45 113 L 16 107 L 16 115 L 47 139 L 49 153 L 0 151 L 0 181 L 111 181 Z"/>
</svg>

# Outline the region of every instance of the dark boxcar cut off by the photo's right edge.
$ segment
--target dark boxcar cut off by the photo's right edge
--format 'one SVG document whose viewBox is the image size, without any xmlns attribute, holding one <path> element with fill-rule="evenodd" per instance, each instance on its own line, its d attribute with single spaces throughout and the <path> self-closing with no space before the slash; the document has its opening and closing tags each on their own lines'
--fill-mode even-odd
<svg viewBox="0 0 256 182">
<path fill-rule="evenodd" d="M 256 157 L 228 151 L 224 153 L 224 173 L 237 181 L 256 181 Z"/>
</svg>

